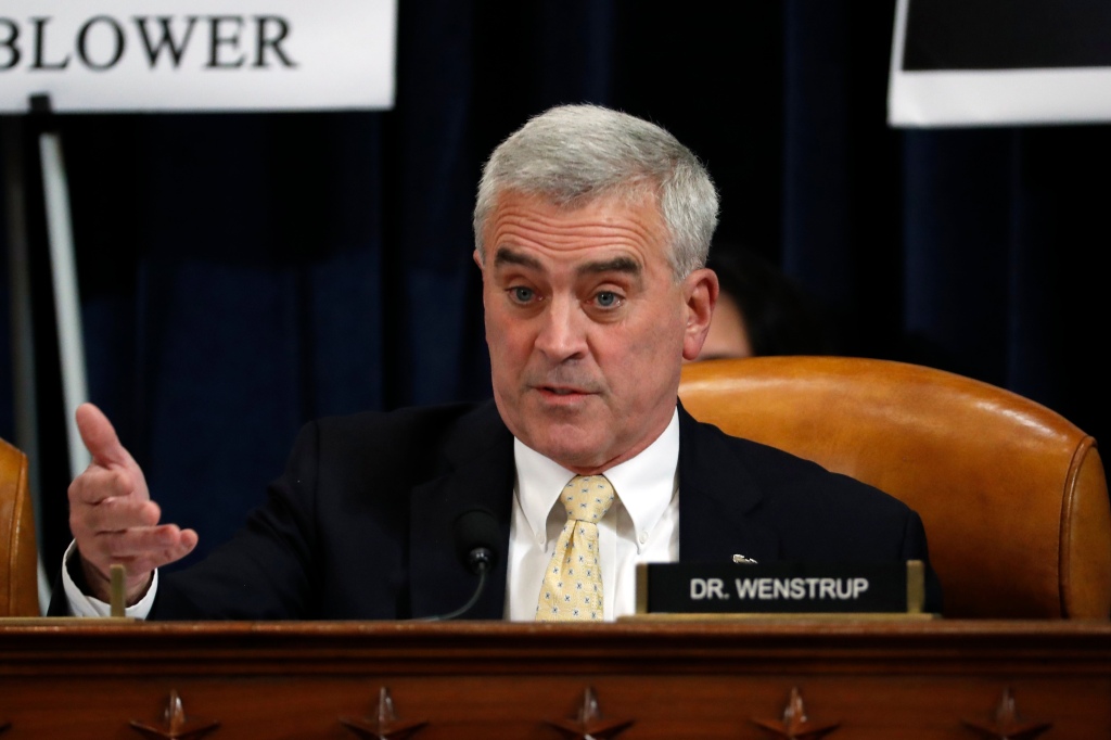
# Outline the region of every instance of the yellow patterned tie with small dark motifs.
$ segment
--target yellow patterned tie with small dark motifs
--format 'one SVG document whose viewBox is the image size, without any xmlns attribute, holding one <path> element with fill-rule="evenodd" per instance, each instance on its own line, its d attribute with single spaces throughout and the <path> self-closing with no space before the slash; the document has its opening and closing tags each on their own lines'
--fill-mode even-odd
<svg viewBox="0 0 1111 740">
<path fill-rule="evenodd" d="M 601 620 L 602 572 L 598 522 L 613 503 L 605 476 L 575 476 L 560 494 L 567 524 L 556 541 L 537 603 L 537 621 Z"/>
</svg>

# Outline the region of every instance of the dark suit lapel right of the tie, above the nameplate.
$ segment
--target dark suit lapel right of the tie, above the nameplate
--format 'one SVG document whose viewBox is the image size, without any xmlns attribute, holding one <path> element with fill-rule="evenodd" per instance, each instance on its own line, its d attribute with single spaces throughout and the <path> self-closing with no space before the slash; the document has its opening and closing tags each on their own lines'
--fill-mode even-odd
<svg viewBox="0 0 1111 740">
<path fill-rule="evenodd" d="M 719 429 L 679 407 L 679 557 L 689 562 L 780 559 L 774 529 L 761 524 L 764 491 Z"/>
</svg>

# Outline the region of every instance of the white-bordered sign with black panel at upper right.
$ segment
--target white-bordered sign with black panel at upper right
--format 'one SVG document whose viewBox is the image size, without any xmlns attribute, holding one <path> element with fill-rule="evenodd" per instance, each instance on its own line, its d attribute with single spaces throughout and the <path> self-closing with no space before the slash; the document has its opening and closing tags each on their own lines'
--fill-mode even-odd
<svg viewBox="0 0 1111 740">
<path fill-rule="evenodd" d="M 895 10 L 891 126 L 1111 121 L 1105 0 L 914 0 L 913 18 L 911 4 Z"/>
</svg>

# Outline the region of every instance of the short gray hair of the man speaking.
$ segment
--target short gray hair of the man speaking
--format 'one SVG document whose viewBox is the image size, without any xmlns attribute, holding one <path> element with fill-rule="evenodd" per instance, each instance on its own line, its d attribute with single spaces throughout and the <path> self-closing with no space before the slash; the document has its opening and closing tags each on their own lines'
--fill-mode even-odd
<svg viewBox="0 0 1111 740">
<path fill-rule="evenodd" d="M 507 191 L 570 208 L 609 196 L 653 197 L 680 280 L 705 264 L 718 226 L 718 191 L 693 152 L 654 123 L 599 106 L 549 109 L 493 150 L 474 203 L 474 247 L 483 259 L 487 220 Z"/>
</svg>

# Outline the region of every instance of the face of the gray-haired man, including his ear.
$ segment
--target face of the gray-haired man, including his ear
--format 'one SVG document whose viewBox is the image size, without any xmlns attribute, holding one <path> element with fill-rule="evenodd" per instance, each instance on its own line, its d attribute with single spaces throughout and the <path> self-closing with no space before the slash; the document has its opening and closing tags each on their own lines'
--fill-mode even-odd
<svg viewBox="0 0 1111 740">
<path fill-rule="evenodd" d="M 564 210 L 502 193 L 479 267 L 494 401 L 518 439 L 590 473 L 659 437 L 718 293 L 709 270 L 677 282 L 669 250 L 648 196 Z"/>
</svg>

